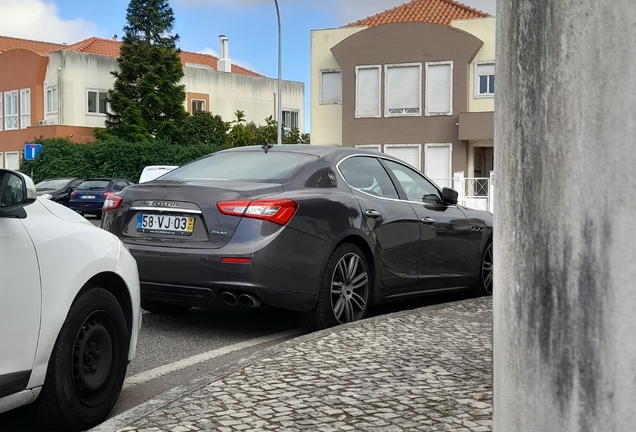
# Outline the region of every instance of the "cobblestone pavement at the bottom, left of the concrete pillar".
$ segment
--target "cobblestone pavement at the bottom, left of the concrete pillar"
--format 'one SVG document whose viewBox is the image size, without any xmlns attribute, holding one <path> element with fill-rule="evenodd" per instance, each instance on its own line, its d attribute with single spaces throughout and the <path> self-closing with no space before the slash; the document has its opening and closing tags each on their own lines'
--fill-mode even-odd
<svg viewBox="0 0 636 432">
<path fill-rule="evenodd" d="M 492 300 L 301 336 L 94 432 L 492 430 Z"/>
</svg>

